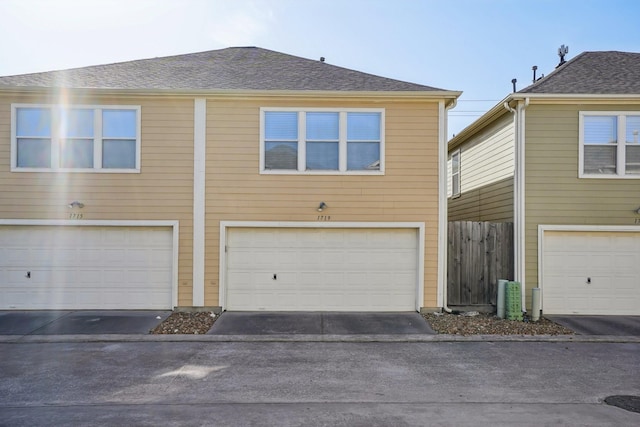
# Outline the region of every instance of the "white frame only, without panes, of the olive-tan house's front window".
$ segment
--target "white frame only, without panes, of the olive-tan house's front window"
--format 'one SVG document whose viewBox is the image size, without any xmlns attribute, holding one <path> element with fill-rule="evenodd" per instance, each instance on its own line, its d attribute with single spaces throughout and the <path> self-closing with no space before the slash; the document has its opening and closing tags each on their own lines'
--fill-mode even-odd
<svg viewBox="0 0 640 427">
<path fill-rule="evenodd" d="M 584 172 L 584 118 L 588 116 L 609 116 L 617 119 L 616 173 L 589 174 Z M 580 111 L 578 118 L 578 178 L 590 179 L 640 179 L 640 174 L 627 174 L 625 171 L 627 116 L 640 116 L 640 111 Z"/>
</svg>

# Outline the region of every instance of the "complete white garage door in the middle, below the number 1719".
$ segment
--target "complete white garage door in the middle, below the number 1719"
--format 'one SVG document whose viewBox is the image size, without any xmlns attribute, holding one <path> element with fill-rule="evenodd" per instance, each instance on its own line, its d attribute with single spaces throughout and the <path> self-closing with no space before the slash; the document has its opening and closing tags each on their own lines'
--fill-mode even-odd
<svg viewBox="0 0 640 427">
<path fill-rule="evenodd" d="M 412 311 L 416 229 L 233 228 L 228 310 Z"/>
</svg>

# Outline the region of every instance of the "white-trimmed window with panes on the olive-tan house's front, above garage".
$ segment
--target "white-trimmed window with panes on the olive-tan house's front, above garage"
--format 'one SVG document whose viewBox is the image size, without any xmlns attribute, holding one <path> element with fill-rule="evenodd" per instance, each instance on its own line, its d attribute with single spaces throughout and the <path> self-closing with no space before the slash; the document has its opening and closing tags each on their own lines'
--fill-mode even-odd
<svg viewBox="0 0 640 427">
<path fill-rule="evenodd" d="M 640 178 L 640 111 L 580 112 L 581 178 Z"/>
</svg>

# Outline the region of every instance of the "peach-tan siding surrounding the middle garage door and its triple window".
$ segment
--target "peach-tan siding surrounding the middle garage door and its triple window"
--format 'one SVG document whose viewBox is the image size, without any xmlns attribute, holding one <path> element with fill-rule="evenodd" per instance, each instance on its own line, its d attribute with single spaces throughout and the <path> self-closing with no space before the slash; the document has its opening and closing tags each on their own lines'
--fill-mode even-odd
<svg viewBox="0 0 640 427">
<path fill-rule="evenodd" d="M 261 175 L 260 108 L 385 108 L 385 175 Z M 436 307 L 438 104 L 306 100 L 207 103 L 205 305 L 218 305 L 220 221 L 425 222 L 425 299 Z"/>
</svg>

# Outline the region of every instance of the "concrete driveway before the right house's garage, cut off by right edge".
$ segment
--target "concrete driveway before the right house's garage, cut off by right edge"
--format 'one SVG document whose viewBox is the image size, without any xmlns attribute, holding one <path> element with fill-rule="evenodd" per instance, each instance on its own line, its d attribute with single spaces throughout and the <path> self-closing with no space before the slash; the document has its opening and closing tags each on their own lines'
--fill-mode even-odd
<svg viewBox="0 0 640 427">
<path fill-rule="evenodd" d="M 545 315 L 579 335 L 640 337 L 640 316 Z"/>
</svg>

